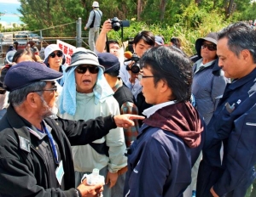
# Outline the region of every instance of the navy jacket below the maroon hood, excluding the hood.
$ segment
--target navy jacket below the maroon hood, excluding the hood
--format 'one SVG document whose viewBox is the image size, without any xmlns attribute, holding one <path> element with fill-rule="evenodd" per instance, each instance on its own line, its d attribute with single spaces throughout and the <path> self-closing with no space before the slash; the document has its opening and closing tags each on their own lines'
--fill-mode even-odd
<svg viewBox="0 0 256 197">
<path fill-rule="evenodd" d="M 125 194 L 130 189 L 132 197 L 182 196 L 191 181 L 189 146 L 157 127 L 144 124 L 141 131 L 137 138 L 143 139 L 131 145 Z"/>
</svg>

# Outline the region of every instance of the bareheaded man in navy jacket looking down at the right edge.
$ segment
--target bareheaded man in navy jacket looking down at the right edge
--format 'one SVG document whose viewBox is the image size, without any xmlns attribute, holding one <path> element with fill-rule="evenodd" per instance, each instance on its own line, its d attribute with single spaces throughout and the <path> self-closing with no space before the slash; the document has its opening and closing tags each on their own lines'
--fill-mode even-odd
<svg viewBox="0 0 256 197">
<path fill-rule="evenodd" d="M 207 125 L 196 196 L 241 197 L 256 177 L 255 46 L 255 31 L 243 22 L 218 32 L 218 66 L 233 81 Z"/>
</svg>

